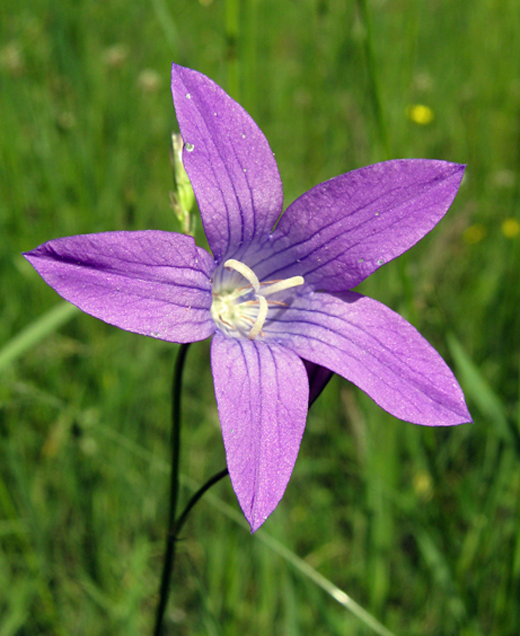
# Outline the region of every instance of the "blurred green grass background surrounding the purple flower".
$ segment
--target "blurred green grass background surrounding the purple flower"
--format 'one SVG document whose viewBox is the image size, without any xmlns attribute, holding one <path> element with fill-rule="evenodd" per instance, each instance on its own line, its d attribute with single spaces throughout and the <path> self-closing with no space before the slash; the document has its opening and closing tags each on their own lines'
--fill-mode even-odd
<svg viewBox="0 0 520 636">
<path fill-rule="evenodd" d="M 22 251 L 178 229 L 172 61 L 257 120 L 286 204 L 391 157 L 468 164 L 446 218 L 361 290 L 441 352 L 475 423 L 397 421 L 335 378 L 264 529 L 395 634 L 516 636 L 517 0 L 2 0 L 0 636 L 151 633 L 176 345 L 74 313 L 12 347 L 61 302 Z M 195 481 L 224 466 L 208 343 L 189 352 L 182 443 Z M 227 480 L 212 492 L 238 509 Z M 178 550 L 168 634 L 374 633 L 208 500 Z"/>
</svg>

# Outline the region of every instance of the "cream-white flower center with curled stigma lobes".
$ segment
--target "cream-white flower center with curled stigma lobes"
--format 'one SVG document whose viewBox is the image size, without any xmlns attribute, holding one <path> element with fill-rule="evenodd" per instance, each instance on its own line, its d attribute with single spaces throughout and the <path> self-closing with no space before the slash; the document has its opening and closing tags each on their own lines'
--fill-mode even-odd
<svg viewBox="0 0 520 636">
<path fill-rule="evenodd" d="M 269 296 L 298 287 L 305 282 L 303 276 L 260 282 L 245 263 L 230 258 L 224 263 L 228 272 L 236 272 L 246 285 L 236 285 L 237 277 L 229 278 L 228 285 L 222 285 L 218 292 L 213 290 L 211 315 L 215 323 L 230 335 L 246 335 L 254 340 L 262 334 L 262 328 L 271 307 L 287 307 L 283 300 L 268 300 Z M 235 284 L 231 284 L 235 281 Z M 279 297 L 280 298 L 280 297 Z M 233 333 L 234 332 L 234 333 Z"/>
</svg>

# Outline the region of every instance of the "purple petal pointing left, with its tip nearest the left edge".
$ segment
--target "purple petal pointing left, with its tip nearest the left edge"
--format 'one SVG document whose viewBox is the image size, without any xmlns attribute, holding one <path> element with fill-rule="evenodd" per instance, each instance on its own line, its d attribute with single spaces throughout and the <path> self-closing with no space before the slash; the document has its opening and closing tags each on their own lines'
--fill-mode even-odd
<svg viewBox="0 0 520 636">
<path fill-rule="evenodd" d="M 60 296 L 121 329 L 170 342 L 203 340 L 215 330 L 215 264 L 189 236 L 84 234 L 49 241 L 24 256 Z"/>
</svg>

